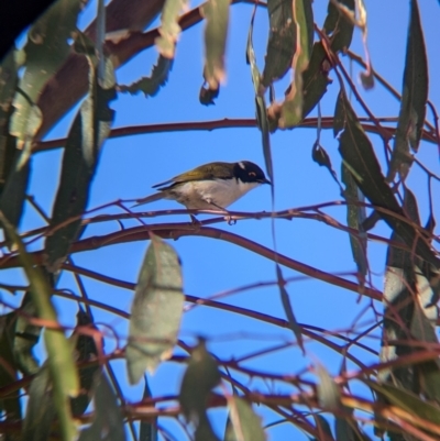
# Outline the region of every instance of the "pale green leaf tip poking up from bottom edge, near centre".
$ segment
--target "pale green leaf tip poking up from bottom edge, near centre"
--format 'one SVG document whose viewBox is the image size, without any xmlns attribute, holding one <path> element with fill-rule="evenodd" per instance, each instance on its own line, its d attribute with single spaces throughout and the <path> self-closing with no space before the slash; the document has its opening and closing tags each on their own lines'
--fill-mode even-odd
<svg viewBox="0 0 440 441">
<path fill-rule="evenodd" d="M 252 406 L 238 396 L 228 398 L 229 423 L 224 441 L 265 441 L 261 418 Z"/>
</svg>

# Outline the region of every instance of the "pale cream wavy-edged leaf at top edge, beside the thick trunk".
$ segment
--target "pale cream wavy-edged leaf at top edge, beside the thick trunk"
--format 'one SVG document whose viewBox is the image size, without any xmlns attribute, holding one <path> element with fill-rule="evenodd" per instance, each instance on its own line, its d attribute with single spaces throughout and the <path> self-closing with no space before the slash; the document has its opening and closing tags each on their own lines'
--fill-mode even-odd
<svg viewBox="0 0 440 441">
<path fill-rule="evenodd" d="M 180 34 L 180 26 L 178 25 L 178 18 L 183 10 L 188 8 L 188 0 L 166 0 L 164 9 L 162 10 L 161 34 L 155 43 L 157 51 L 165 58 L 174 58 L 174 51 L 176 47 L 177 38 Z"/>
</svg>

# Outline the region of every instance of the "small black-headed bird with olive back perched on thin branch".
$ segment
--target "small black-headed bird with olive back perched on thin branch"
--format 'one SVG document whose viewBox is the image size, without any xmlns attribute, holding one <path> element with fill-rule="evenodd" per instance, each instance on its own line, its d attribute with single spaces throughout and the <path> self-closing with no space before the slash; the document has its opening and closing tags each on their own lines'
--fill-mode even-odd
<svg viewBox="0 0 440 441">
<path fill-rule="evenodd" d="M 134 207 L 160 199 L 172 199 L 187 209 L 219 208 L 227 211 L 228 206 L 262 184 L 272 185 L 264 172 L 250 161 L 209 163 L 156 184 L 153 188 L 157 188 L 158 192 L 138 199 Z"/>
</svg>

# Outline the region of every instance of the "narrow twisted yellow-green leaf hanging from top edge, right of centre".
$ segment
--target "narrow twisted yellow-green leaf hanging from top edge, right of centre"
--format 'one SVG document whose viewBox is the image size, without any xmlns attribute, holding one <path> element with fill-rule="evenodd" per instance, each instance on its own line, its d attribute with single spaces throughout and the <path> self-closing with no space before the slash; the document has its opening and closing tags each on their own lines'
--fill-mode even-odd
<svg viewBox="0 0 440 441">
<path fill-rule="evenodd" d="M 304 78 L 314 44 L 314 13 L 310 0 L 294 2 L 294 21 L 296 24 L 296 51 L 293 59 L 294 80 L 290 91 L 282 106 L 280 128 L 293 128 L 302 119 Z"/>
</svg>

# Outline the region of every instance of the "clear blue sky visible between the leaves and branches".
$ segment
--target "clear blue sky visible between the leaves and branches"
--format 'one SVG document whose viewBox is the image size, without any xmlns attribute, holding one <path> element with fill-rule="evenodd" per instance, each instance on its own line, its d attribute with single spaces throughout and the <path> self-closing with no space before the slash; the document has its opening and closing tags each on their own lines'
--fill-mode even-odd
<svg viewBox="0 0 440 441">
<path fill-rule="evenodd" d="M 198 3 L 193 2 L 191 7 Z M 385 77 L 397 90 L 402 89 L 403 68 L 405 63 L 406 34 L 408 26 L 409 1 L 388 0 L 386 2 L 365 1 L 369 19 L 369 48 L 374 68 Z M 440 8 L 435 0 L 420 0 L 420 14 L 424 25 L 427 53 L 429 59 L 430 89 L 429 98 L 435 106 L 440 106 L 440 84 L 437 81 L 440 62 L 438 57 L 438 42 L 440 41 Z M 87 24 L 94 13 L 95 2 L 91 2 L 81 18 L 82 25 Z M 227 84 L 222 86 L 216 106 L 202 107 L 198 101 L 199 88 L 202 84 L 202 24 L 198 24 L 182 34 L 177 45 L 176 59 L 169 76 L 168 84 L 154 98 L 120 95 L 112 102 L 116 109 L 113 126 L 120 128 L 135 124 L 154 124 L 166 122 L 191 122 L 216 119 L 254 118 L 254 89 L 251 81 L 250 67 L 245 64 L 245 46 L 253 7 L 235 4 L 231 7 L 231 23 L 227 51 Z M 322 25 L 327 14 L 327 1 L 314 2 L 315 21 Z M 157 23 L 155 23 L 157 24 Z M 260 68 L 263 67 L 267 37 L 267 13 L 258 9 L 254 25 L 254 45 Z M 361 33 L 355 30 L 351 49 L 363 55 Z M 121 67 L 117 71 L 119 84 L 131 84 L 142 76 L 150 75 L 156 62 L 155 48 L 147 49 Z M 348 58 L 345 66 L 350 68 Z M 359 68 L 353 65 L 352 73 L 359 89 Z M 282 98 L 288 84 L 289 75 L 276 86 L 276 96 Z M 322 100 L 322 115 L 332 115 L 336 97 L 339 91 L 336 75 L 330 74 L 333 84 Z M 362 96 L 377 117 L 395 117 L 398 114 L 399 103 L 384 89 L 376 87 Z M 354 100 L 353 100 L 354 101 Z M 353 102 L 359 110 L 359 106 Z M 316 115 L 316 110 L 311 115 Z M 363 114 L 362 114 L 363 115 Z M 64 136 L 67 133 L 73 113 L 69 112 L 63 121 L 47 135 L 47 139 Z M 432 121 L 430 113 L 428 118 Z M 311 161 L 311 147 L 316 140 L 312 129 L 296 129 L 278 131 L 272 135 L 272 154 L 275 169 L 275 208 L 277 210 L 310 206 L 314 203 L 340 200 L 339 188 L 323 167 Z M 374 148 L 382 159 L 381 140 L 371 135 Z M 321 144 L 331 156 L 334 170 L 340 175 L 340 157 L 338 142 L 332 131 L 323 131 Z M 33 158 L 33 174 L 30 192 L 37 202 L 50 212 L 57 187 L 59 174 L 61 151 L 37 154 Z M 425 142 L 420 145 L 418 158 L 432 172 L 439 173 L 437 147 Z M 152 192 L 151 186 L 163 181 L 176 174 L 194 168 L 197 165 L 212 161 L 253 161 L 264 165 L 261 135 L 257 129 L 228 129 L 216 131 L 190 131 L 175 133 L 145 134 L 130 137 L 120 137 L 106 142 L 97 176 L 92 185 L 89 208 L 94 208 L 118 199 L 144 197 Z M 386 173 L 386 169 L 384 169 Z M 422 222 L 428 216 L 427 179 L 416 165 L 413 166 L 407 180 L 408 187 L 416 192 L 419 200 L 419 210 Z M 440 186 L 433 183 L 433 199 L 438 200 Z M 173 201 L 155 202 L 148 210 L 182 208 Z M 246 197 L 235 202 L 231 209 L 240 211 L 271 210 L 270 188 L 262 187 L 253 190 Z M 435 207 L 437 217 L 439 208 Z M 107 211 L 109 212 L 109 211 Z M 114 212 L 114 211 L 113 211 Z M 327 212 L 341 222 L 345 222 L 344 208 L 331 208 Z M 206 217 L 200 217 L 205 219 Z M 186 222 L 184 217 L 166 217 L 147 219 L 147 223 L 156 222 Z M 33 209 L 28 206 L 21 230 L 26 231 L 42 221 Z M 133 221 L 125 225 L 135 225 Z M 267 247 L 273 247 L 270 220 L 244 220 L 234 225 L 226 222 L 213 225 L 216 228 L 243 235 Z M 114 224 L 98 224 L 88 228 L 86 236 L 106 234 L 119 229 Z M 341 231 L 314 221 L 294 219 L 293 221 L 275 221 L 277 250 L 301 263 L 315 266 L 331 274 L 341 274 L 355 280 L 348 274 L 355 271 L 352 261 L 349 238 Z M 384 223 L 377 224 L 375 234 L 389 236 L 389 230 Z M 210 297 L 224 290 L 240 286 L 275 280 L 275 265 L 249 250 L 241 249 L 219 240 L 188 236 L 170 242 L 183 261 L 185 293 L 193 296 Z M 135 242 L 124 245 L 108 246 L 90 253 L 79 253 L 74 261 L 79 266 L 90 267 L 106 275 L 134 283 L 140 265 L 148 243 Z M 34 245 L 35 249 L 38 244 Z M 369 243 L 369 258 L 373 272 L 373 282 L 377 289 L 382 289 L 386 246 L 381 243 Z M 343 331 L 350 328 L 358 313 L 370 305 L 366 298 L 358 301 L 358 295 L 332 285 L 311 278 L 301 277 L 290 269 L 283 269 L 285 278 L 297 276 L 296 282 L 289 283 L 287 290 L 295 310 L 297 320 L 332 331 Z M 16 280 L 18 272 L 11 272 L 7 278 Z M 84 278 L 90 298 L 109 302 L 129 311 L 133 293 L 116 289 Z M 73 289 L 77 293 L 72 275 L 64 274 L 59 287 Z M 9 300 L 9 299 L 8 299 Z M 19 299 L 12 299 L 11 302 Z M 276 286 L 250 289 L 239 295 L 229 296 L 222 301 L 250 308 L 274 317 L 284 318 L 279 295 Z M 64 324 L 75 322 L 76 306 L 67 300 L 56 299 L 61 320 Z M 381 310 L 382 306 L 377 305 Z M 128 323 L 120 318 L 102 313 L 94 309 L 98 322 L 108 323 L 118 330 L 122 339 L 127 338 Z M 374 316 L 371 310 L 362 317 L 363 324 L 372 324 Z M 361 323 L 361 324 L 362 324 Z M 184 313 L 180 338 L 194 343 L 195 335 L 204 334 L 209 339 L 209 349 L 220 359 L 229 360 L 248 354 L 262 348 L 275 346 L 280 342 L 293 342 L 295 339 L 289 331 L 270 327 L 260 321 L 239 315 L 228 313 L 206 307 L 191 308 Z M 378 335 L 378 332 L 375 333 Z M 123 340 L 122 340 L 123 341 Z M 367 340 L 378 349 L 380 341 Z M 295 374 L 302 368 L 322 363 L 331 374 L 338 374 L 341 367 L 341 357 L 323 348 L 319 343 L 306 343 L 307 356 L 302 356 L 294 344 L 287 350 L 268 356 L 257 357 L 245 363 L 246 366 L 272 373 Z M 106 349 L 114 349 L 114 341 L 108 339 Z M 182 353 L 179 350 L 176 353 Z M 373 354 L 353 351 L 364 363 L 376 361 Z M 127 385 L 124 362 L 114 363 L 114 367 L 124 390 L 133 401 L 142 397 L 142 385 L 130 387 Z M 349 368 L 353 366 L 349 363 Z M 157 373 L 150 377 L 151 387 L 155 396 L 175 394 L 180 381 L 183 366 L 175 363 L 164 363 Z M 243 378 L 244 384 L 254 390 L 272 390 L 271 385 L 257 381 Z M 282 392 L 279 385 L 274 389 Z M 258 412 L 262 410 L 257 409 Z M 222 436 L 226 412 L 213 412 L 215 428 Z M 264 423 L 270 423 L 278 417 L 264 411 Z M 170 423 L 175 433 L 179 433 L 175 425 Z M 286 436 L 297 433 L 289 425 L 279 425 L 268 430 L 270 439 L 285 439 Z M 182 433 L 180 433 L 182 436 Z M 178 437 L 178 439 L 182 439 Z"/>
</svg>

